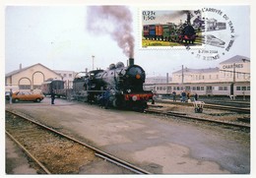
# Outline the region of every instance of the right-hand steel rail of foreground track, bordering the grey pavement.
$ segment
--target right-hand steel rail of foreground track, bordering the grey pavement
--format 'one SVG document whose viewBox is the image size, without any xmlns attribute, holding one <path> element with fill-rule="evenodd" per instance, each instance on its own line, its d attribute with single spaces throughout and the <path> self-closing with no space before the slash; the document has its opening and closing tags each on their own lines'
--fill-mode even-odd
<svg viewBox="0 0 256 178">
<path fill-rule="evenodd" d="M 133 165 L 133 164 L 131 164 L 131 163 L 125 161 L 125 160 L 119 159 L 118 157 L 115 157 L 114 155 L 111 155 L 111 154 L 109 154 L 109 153 L 107 153 L 107 152 L 104 152 L 104 151 L 98 149 L 98 148 L 95 148 L 95 147 L 90 146 L 90 145 L 88 145 L 88 144 L 86 144 L 86 143 L 83 143 L 83 142 L 81 142 L 81 141 L 79 141 L 79 140 L 77 140 L 77 139 L 75 139 L 75 138 L 72 138 L 72 137 L 70 137 L 70 136 L 68 136 L 68 135 L 66 135 L 66 134 L 63 134 L 63 133 L 61 133 L 61 132 L 59 132 L 59 131 L 56 131 L 56 130 L 54 130 L 54 129 L 48 127 L 48 126 L 45 126 L 45 125 L 43 125 L 43 124 L 41 124 L 41 123 L 39 123 L 39 122 L 36 122 L 36 121 L 34 121 L 34 120 L 28 118 L 28 117 L 25 116 L 25 115 L 21 115 L 20 113 L 17 113 L 17 112 L 15 112 L 15 111 L 10 111 L 10 110 L 8 110 L 8 109 L 6 109 L 6 111 L 7 111 L 7 112 L 10 112 L 10 113 L 12 113 L 12 114 L 14 114 L 14 115 L 17 115 L 17 116 L 19 116 L 19 117 L 22 117 L 22 118 L 24 118 L 24 119 L 26 119 L 26 120 L 32 122 L 32 123 L 35 124 L 35 125 L 38 125 L 38 126 L 40 126 L 40 127 L 43 127 L 43 128 L 46 129 L 46 130 L 49 130 L 49 131 L 51 131 L 51 132 L 53 132 L 53 133 L 55 133 L 55 134 L 57 134 L 57 135 L 59 135 L 59 136 L 61 136 L 61 137 L 67 138 L 67 139 L 69 139 L 69 140 L 71 140 L 71 141 L 73 141 L 73 142 L 76 142 L 76 143 L 78 143 L 78 144 L 80 144 L 80 145 L 82 145 L 82 146 L 84 146 L 84 147 L 86 147 L 86 148 L 91 148 L 91 149 L 93 149 L 94 151 L 96 151 L 97 154 L 100 154 L 100 155 L 103 155 L 104 157 L 106 157 L 107 160 L 110 160 L 110 159 L 111 159 L 112 162 L 118 162 L 118 165 L 123 166 L 124 168 L 129 167 L 129 170 L 134 170 L 135 173 L 140 173 L 140 174 L 152 174 L 151 172 L 149 172 L 149 171 L 147 171 L 147 170 L 144 170 L 144 169 L 142 169 L 142 168 L 140 168 L 140 167 L 138 167 L 138 166 L 136 166 L 136 165 Z"/>
</svg>

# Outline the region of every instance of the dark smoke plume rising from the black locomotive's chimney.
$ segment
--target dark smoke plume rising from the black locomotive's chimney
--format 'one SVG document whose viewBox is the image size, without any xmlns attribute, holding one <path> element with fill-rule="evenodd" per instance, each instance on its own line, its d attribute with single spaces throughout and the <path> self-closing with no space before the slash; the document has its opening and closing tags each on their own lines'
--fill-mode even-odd
<svg viewBox="0 0 256 178">
<path fill-rule="evenodd" d="M 132 14 L 125 6 L 91 6 L 87 11 L 87 29 L 96 35 L 108 33 L 127 57 L 134 57 Z"/>
</svg>

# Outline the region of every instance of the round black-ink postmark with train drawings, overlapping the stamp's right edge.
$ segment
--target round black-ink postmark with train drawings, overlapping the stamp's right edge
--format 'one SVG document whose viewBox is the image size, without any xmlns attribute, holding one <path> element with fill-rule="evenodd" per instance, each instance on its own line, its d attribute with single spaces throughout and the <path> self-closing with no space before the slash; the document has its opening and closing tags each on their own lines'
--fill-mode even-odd
<svg viewBox="0 0 256 178">
<path fill-rule="evenodd" d="M 202 30 L 199 36 L 202 38 L 202 48 L 190 50 L 191 48 L 187 46 L 186 49 L 198 59 L 207 61 L 220 59 L 230 51 L 235 40 L 232 21 L 218 8 L 204 7 L 192 13 L 195 17 L 194 24 Z"/>
</svg>

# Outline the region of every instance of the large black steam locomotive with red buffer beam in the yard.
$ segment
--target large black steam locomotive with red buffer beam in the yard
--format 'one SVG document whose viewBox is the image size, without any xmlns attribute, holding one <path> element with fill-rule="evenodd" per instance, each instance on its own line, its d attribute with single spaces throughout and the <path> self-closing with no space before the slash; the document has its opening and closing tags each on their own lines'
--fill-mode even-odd
<svg viewBox="0 0 256 178">
<path fill-rule="evenodd" d="M 130 58 L 127 67 L 122 62 L 118 62 L 116 65 L 110 64 L 106 70 L 90 71 L 85 76 L 76 78 L 73 82 L 71 97 L 98 103 L 99 98 L 108 91 L 109 105 L 116 108 L 144 110 L 149 100 L 154 101 L 153 91 L 143 89 L 145 79 L 146 74 L 143 68 L 135 65 L 134 59 Z M 51 89 L 55 88 L 53 86 Z M 55 94 L 69 97 L 70 92 L 65 89 L 58 89 L 58 91 L 61 93 Z"/>
</svg>

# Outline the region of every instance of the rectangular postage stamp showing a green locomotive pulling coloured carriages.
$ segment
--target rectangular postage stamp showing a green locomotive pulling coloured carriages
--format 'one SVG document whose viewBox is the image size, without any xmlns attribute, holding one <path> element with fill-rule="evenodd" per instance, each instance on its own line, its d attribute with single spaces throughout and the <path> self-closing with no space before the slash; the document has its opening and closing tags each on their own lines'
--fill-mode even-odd
<svg viewBox="0 0 256 178">
<path fill-rule="evenodd" d="M 142 48 L 200 47 L 204 21 L 195 10 L 141 10 Z"/>
</svg>

